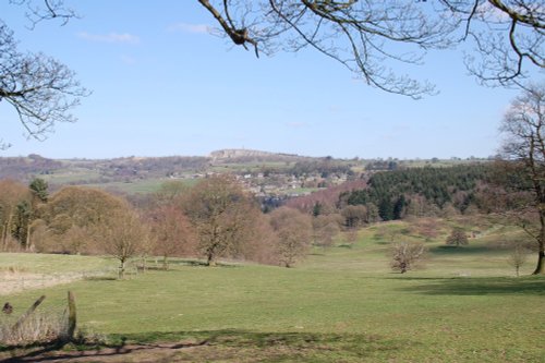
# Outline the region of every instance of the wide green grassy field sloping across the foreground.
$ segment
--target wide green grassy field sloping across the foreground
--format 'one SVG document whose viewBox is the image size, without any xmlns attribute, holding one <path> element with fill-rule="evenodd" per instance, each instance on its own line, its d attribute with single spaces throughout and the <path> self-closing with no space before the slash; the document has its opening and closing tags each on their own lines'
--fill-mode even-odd
<svg viewBox="0 0 545 363">
<path fill-rule="evenodd" d="M 425 268 L 401 275 L 389 270 L 389 242 L 377 232 L 407 227 L 366 229 L 354 245 L 316 249 L 291 269 L 177 261 L 169 271 L 122 281 L 92 278 L 3 298 L 23 308 L 44 293 L 40 308 L 52 310 L 70 289 L 87 334 L 104 335 L 118 352 L 170 343 L 154 351 L 165 362 L 545 362 L 545 279 L 513 277 L 508 252 L 491 247 L 495 233 L 505 231 L 491 228 L 459 249 L 443 247 L 440 235 L 427 242 Z M 0 254 L 0 268 L 77 270 L 74 257 Z M 82 258 L 89 268 L 114 265 Z M 89 361 L 146 360 L 131 356 Z"/>
</svg>

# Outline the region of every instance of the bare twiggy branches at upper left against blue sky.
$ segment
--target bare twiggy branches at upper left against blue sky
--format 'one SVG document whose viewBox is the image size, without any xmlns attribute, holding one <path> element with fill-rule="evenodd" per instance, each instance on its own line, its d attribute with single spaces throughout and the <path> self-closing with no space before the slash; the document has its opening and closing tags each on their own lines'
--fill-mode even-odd
<svg viewBox="0 0 545 363">
<path fill-rule="evenodd" d="M 53 19 L 61 1 L 45 1 L 45 10 L 27 3 L 33 12 L 27 13 L 32 25 L 40 20 Z M 46 138 L 57 122 L 74 122 L 71 109 L 88 93 L 66 65 L 43 53 L 25 53 L 17 49 L 13 32 L 0 20 L 0 105 L 11 105 L 27 132 L 28 137 Z M 0 143 L 1 148 L 8 144 Z"/>
</svg>

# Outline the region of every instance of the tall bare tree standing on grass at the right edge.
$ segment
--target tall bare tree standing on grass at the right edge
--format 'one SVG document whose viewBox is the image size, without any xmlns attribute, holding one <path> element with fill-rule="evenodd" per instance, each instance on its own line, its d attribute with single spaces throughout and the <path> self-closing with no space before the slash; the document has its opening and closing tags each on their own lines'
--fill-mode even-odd
<svg viewBox="0 0 545 363">
<path fill-rule="evenodd" d="M 511 102 L 504 117 L 500 131 L 506 136 L 502 144 L 504 156 L 520 168 L 514 168 L 533 201 L 519 208 L 522 228 L 537 243 L 537 265 L 534 275 L 545 274 L 545 85 L 530 85 L 521 96 Z M 518 179 L 518 178 L 516 178 Z M 523 189 L 524 183 L 518 183 Z M 532 213 L 533 211 L 533 213 Z M 535 215 L 531 222 L 529 216 Z M 537 227 L 534 227 L 537 225 Z"/>
</svg>

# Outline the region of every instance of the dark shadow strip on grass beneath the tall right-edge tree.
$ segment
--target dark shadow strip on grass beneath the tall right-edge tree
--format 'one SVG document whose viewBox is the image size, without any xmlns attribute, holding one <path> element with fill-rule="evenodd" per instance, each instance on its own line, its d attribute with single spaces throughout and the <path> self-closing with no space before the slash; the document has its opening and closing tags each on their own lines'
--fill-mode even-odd
<svg viewBox="0 0 545 363">
<path fill-rule="evenodd" d="M 409 278 L 423 280 L 424 285 L 401 288 L 403 291 L 428 295 L 542 295 L 545 297 L 545 278 L 541 276 L 508 277 L 470 277 L 470 278 Z"/>
</svg>

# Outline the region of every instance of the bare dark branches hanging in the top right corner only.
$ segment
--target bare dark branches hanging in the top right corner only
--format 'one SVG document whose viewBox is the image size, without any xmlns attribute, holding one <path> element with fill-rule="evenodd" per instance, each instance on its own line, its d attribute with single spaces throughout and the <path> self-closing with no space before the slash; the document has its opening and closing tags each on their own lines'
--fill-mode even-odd
<svg viewBox="0 0 545 363">
<path fill-rule="evenodd" d="M 545 68 L 543 0 L 440 0 L 458 20 L 462 40 L 473 39 L 477 56 L 470 72 L 484 84 L 520 84 L 528 69 Z"/>
</svg>

